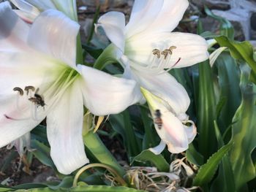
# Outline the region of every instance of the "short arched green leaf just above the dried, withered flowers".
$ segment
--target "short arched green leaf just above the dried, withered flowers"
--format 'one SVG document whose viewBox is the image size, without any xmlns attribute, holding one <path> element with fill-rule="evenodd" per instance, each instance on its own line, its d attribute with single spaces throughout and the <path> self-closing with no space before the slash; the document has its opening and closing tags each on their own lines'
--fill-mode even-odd
<svg viewBox="0 0 256 192">
<path fill-rule="evenodd" d="M 154 164 L 159 172 L 169 172 L 170 165 L 167 163 L 162 155 L 155 155 L 150 150 L 143 150 L 139 155 L 132 159 L 131 164 L 134 161 L 146 163 L 147 161 Z"/>
</svg>

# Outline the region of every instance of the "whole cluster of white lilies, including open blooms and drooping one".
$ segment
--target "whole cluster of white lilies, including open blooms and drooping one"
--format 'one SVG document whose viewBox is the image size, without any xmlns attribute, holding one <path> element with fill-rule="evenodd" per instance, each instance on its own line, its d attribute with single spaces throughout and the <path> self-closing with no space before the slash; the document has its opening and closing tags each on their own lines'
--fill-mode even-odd
<svg viewBox="0 0 256 192">
<path fill-rule="evenodd" d="M 76 64 L 80 26 L 75 0 L 12 3 L 19 10 L 7 1 L 0 4 L 0 147 L 47 117 L 51 158 L 59 172 L 69 174 L 89 162 L 83 107 L 110 115 L 146 99 L 162 139 L 151 150 L 161 153 L 165 145 L 171 153 L 187 150 L 196 135 L 186 115 L 189 96 L 167 71 L 208 58 L 202 37 L 170 33 L 187 0 L 135 0 L 127 25 L 121 12 L 99 18 L 97 27 L 112 43 L 95 66 L 112 58 L 124 67 L 122 78 Z"/>
</svg>

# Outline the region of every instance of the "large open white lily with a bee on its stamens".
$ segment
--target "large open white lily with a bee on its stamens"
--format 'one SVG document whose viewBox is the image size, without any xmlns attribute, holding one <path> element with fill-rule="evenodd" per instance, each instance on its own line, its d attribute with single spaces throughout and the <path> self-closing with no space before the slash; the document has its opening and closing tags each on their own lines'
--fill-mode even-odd
<svg viewBox="0 0 256 192">
<path fill-rule="evenodd" d="M 89 162 L 83 105 L 94 115 L 121 112 L 136 101 L 135 81 L 76 66 L 79 25 L 59 11 L 42 12 L 30 26 L 4 2 L 0 23 L 0 147 L 47 116 L 51 158 L 69 174 Z"/>
</svg>

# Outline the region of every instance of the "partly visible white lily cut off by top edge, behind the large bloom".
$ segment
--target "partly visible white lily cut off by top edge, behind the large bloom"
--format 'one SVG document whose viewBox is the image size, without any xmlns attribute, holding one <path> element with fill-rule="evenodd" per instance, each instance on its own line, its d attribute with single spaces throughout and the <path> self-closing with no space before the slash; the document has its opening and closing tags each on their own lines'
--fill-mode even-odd
<svg viewBox="0 0 256 192">
<path fill-rule="evenodd" d="M 40 12 L 47 9 L 57 9 L 64 12 L 72 20 L 78 21 L 78 12 L 75 0 L 10 0 L 18 7 L 15 12 L 27 23 L 33 23 Z"/>
</svg>

